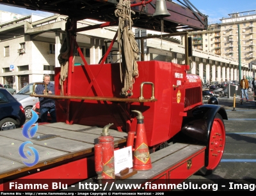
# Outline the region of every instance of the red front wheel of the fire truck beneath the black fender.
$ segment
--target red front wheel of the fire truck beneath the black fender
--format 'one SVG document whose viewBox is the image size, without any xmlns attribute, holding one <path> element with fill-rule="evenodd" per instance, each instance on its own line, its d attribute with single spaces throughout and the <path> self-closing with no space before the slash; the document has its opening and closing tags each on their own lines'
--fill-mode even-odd
<svg viewBox="0 0 256 196">
<path fill-rule="evenodd" d="M 216 114 L 214 122 L 212 123 L 211 135 L 209 137 L 209 143 L 206 148 L 208 152 L 205 152 L 205 158 L 208 158 L 207 167 L 203 167 L 199 170 L 199 174 L 206 176 L 212 174 L 212 172 L 218 167 L 221 157 L 225 148 L 225 126 L 220 114 Z"/>
</svg>

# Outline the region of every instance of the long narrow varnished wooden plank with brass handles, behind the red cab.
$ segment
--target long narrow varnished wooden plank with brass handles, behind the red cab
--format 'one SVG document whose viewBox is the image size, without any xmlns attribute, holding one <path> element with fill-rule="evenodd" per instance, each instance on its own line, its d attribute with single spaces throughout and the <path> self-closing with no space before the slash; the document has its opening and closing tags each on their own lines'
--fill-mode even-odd
<svg viewBox="0 0 256 196">
<path fill-rule="evenodd" d="M 156 102 L 157 99 L 143 99 L 139 98 L 118 98 L 108 96 L 76 96 L 76 95 L 56 95 L 56 94 L 30 94 L 34 97 L 44 97 L 59 100 L 95 100 L 95 101 L 108 101 L 108 102 Z"/>
</svg>

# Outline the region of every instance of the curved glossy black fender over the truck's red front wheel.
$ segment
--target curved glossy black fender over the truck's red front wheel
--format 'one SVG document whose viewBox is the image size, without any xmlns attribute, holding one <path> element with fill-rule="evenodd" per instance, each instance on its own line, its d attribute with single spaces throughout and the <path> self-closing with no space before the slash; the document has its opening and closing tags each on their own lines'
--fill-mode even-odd
<svg viewBox="0 0 256 196">
<path fill-rule="evenodd" d="M 182 123 L 181 132 L 189 137 L 190 141 L 193 140 L 193 143 L 196 141 L 196 144 L 206 146 L 205 167 L 209 165 L 209 140 L 212 124 L 217 114 L 220 114 L 222 119 L 228 119 L 226 110 L 220 105 L 200 105 L 189 110 L 187 117 L 184 117 Z"/>
</svg>

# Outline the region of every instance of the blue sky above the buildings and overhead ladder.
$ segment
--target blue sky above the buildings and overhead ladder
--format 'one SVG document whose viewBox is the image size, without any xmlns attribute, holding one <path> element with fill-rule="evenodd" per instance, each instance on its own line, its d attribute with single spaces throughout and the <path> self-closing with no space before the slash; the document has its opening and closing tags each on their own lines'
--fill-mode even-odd
<svg viewBox="0 0 256 196">
<path fill-rule="evenodd" d="M 175 2 L 175 0 L 173 1 Z M 220 22 L 220 19 L 222 17 L 228 17 L 228 13 L 256 10 L 255 0 L 190 0 L 190 2 L 199 11 L 209 16 L 209 24 Z M 13 6 L 4 6 L 3 4 L 0 4 L 0 10 L 19 13 L 22 15 L 29 15 L 31 13 L 46 16 L 52 15 L 52 13 L 27 10 L 23 8 L 16 8 Z"/>
</svg>

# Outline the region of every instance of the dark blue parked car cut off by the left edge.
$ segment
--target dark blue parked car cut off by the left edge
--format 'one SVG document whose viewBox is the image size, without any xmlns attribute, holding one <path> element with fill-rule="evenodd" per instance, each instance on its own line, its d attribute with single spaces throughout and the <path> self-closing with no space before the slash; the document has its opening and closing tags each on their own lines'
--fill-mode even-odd
<svg viewBox="0 0 256 196">
<path fill-rule="evenodd" d="M 0 130 L 19 128 L 25 121 L 22 105 L 6 89 L 0 87 Z"/>
</svg>

